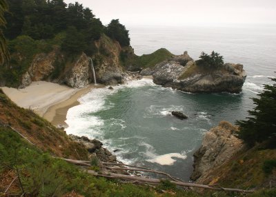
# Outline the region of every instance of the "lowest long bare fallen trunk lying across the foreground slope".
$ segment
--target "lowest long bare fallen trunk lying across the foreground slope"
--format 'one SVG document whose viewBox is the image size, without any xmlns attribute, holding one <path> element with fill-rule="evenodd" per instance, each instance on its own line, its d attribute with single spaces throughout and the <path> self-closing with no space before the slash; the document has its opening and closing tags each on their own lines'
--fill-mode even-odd
<svg viewBox="0 0 276 197">
<path fill-rule="evenodd" d="M 103 173 L 103 174 L 98 174 L 95 171 L 88 170 L 86 171 L 88 174 L 92 174 L 94 176 L 110 176 L 110 178 L 119 178 L 119 179 L 124 179 L 124 180 L 137 180 L 139 182 L 144 182 L 144 183 L 161 183 L 161 180 L 156 179 L 156 178 L 143 178 L 143 177 L 138 177 L 138 176 L 129 176 L 129 175 L 124 175 L 124 174 L 115 174 L 115 173 Z M 196 183 L 184 183 L 180 181 L 170 181 L 170 183 L 174 183 L 175 185 L 183 186 L 183 187 L 199 187 L 199 188 L 204 188 L 204 189 L 213 189 L 217 191 L 236 191 L 236 192 L 241 192 L 241 193 L 253 193 L 254 190 L 244 190 L 244 189 L 234 189 L 234 188 L 226 188 L 226 187 L 211 187 L 208 185 L 201 185 L 201 184 L 196 184 Z"/>
</svg>

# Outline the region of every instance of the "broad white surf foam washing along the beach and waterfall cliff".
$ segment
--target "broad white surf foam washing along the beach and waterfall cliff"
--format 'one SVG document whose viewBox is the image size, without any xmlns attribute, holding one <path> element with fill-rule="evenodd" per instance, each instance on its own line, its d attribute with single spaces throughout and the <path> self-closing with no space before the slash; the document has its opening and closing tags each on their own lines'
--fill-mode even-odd
<svg viewBox="0 0 276 197">
<path fill-rule="evenodd" d="M 152 79 L 141 79 L 137 81 L 128 81 L 124 85 L 115 85 L 113 87 L 114 90 L 109 90 L 108 87 L 92 89 L 88 94 L 78 99 L 80 105 L 68 110 L 66 116 L 68 127 L 66 128 L 66 132 L 76 135 L 88 133 L 91 138 L 98 136 L 101 133 L 100 127 L 103 126 L 104 122 L 101 118 L 88 114 L 114 107 L 113 103 L 108 103 L 108 105 L 106 105 L 106 96 L 115 94 L 126 87 L 135 88 L 154 85 L 155 83 L 152 82 Z M 122 129 L 126 128 L 123 122 L 114 124 L 120 125 Z"/>
</svg>

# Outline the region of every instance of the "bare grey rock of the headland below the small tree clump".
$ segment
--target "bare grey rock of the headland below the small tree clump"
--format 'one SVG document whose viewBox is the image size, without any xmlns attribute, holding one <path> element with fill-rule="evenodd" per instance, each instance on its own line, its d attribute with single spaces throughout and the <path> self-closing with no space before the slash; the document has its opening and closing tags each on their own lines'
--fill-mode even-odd
<svg viewBox="0 0 276 197">
<path fill-rule="evenodd" d="M 242 91 L 246 79 L 241 64 L 225 63 L 221 68 L 204 68 L 197 65 L 187 52 L 157 64 L 150 74 L 156 84 L 185 92 L 237 93 Z"/>
</svg>

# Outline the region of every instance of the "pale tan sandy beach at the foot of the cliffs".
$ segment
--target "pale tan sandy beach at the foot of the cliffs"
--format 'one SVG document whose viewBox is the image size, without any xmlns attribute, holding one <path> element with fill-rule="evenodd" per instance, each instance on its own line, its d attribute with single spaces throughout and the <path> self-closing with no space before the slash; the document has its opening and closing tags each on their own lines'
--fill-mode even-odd
<svg viewBox="0 0 276 197">
<path fill-rule="evenodd" d="M 66 121 L 68 109 L 78 105 L 77 99 L 95 87 L 104 86 L 90 84 L 80 89 L 74 89 L 57 83 L 35 81 L 24 89 L 0 88 L 20 107 L 34 110 L 39 116 L 46 118 L 53 125 L 66 126 L 64 121 Z"/>
</svg>

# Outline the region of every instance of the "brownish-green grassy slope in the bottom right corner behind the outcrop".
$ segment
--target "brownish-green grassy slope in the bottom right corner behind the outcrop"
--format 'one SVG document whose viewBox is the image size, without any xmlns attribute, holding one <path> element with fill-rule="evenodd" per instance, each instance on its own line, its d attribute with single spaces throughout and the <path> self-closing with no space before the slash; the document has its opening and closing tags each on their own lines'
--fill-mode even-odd
<svg viewBox="0 0 276 197">
<path fill-rule="evenodd" d="M 262 145 L 244 149 L 211 172 L 203 183 L 257 190 L 248 196 L 276 196 L 276 166 L 265 172 L 268 160 L 276 163 L 276 149 L 264 149 Z"/>
</svg>

